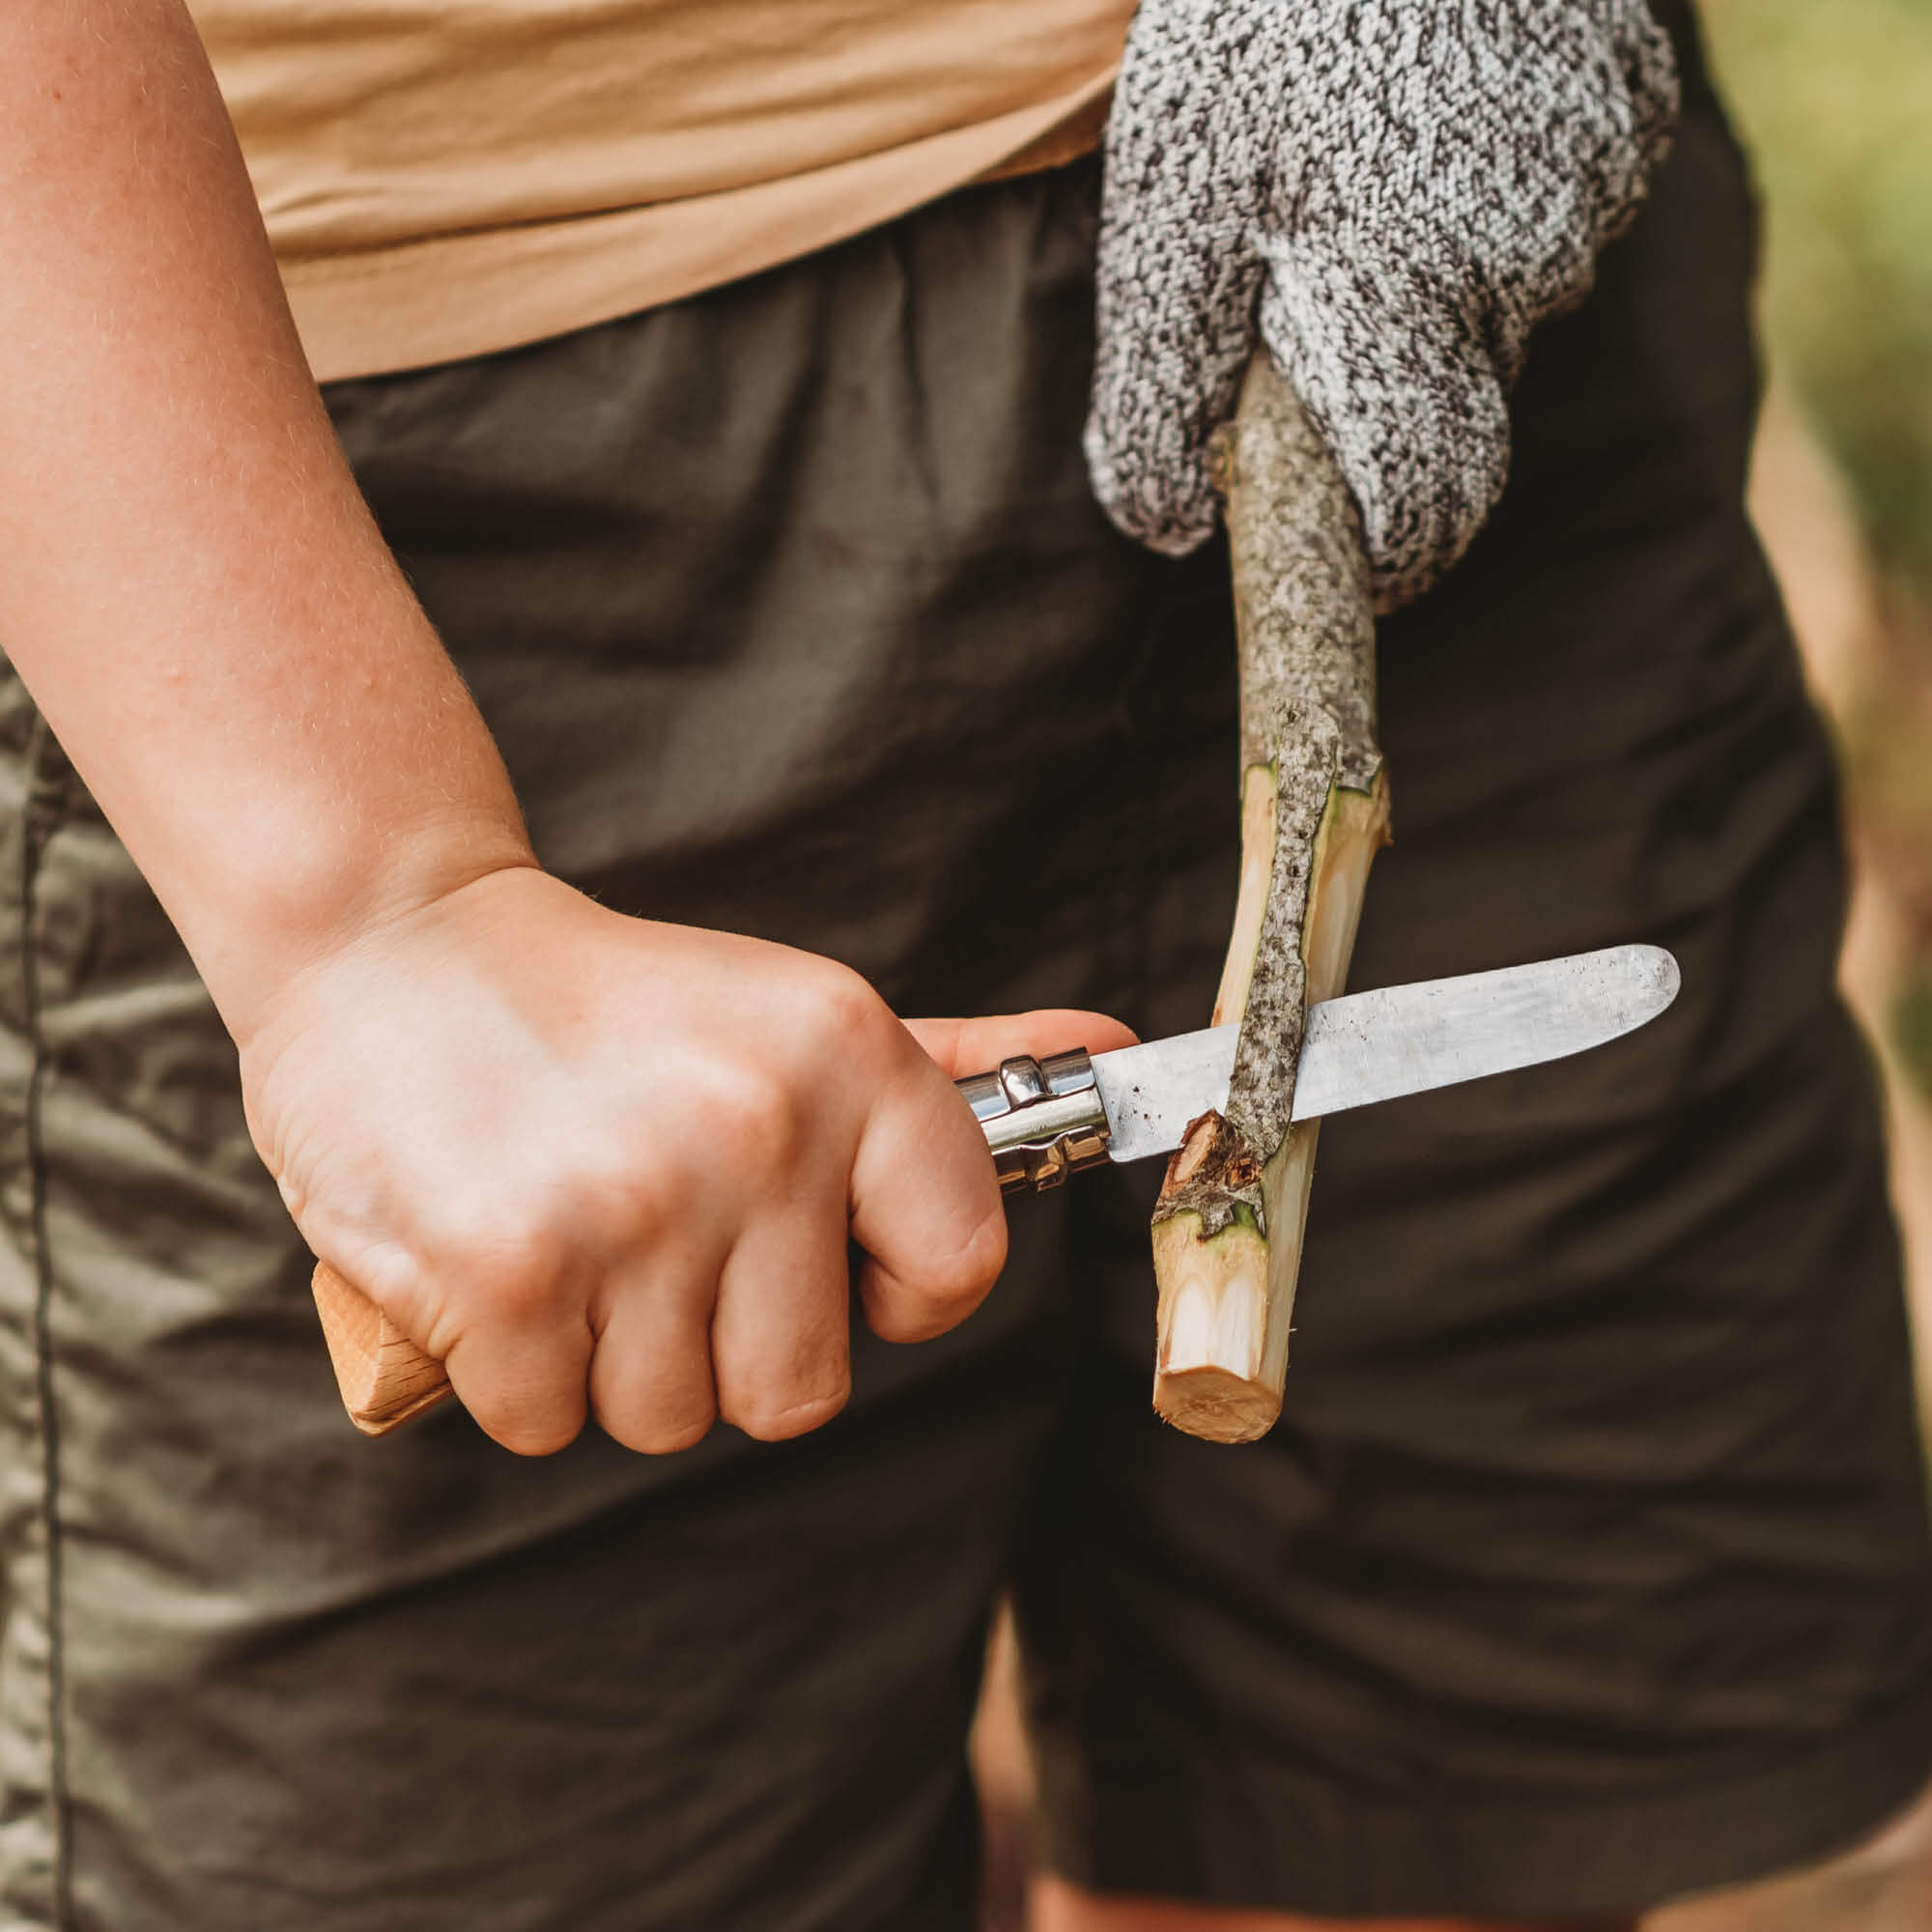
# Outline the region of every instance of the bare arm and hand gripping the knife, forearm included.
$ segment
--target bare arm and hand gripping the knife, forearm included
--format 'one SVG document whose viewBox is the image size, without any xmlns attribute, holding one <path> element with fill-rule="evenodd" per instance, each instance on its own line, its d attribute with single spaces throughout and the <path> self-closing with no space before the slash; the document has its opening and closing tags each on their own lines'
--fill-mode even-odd
<svg viewBox="0 0 1932 1932">
<path fill-rule="evenodd" d="M 309 379 L 180 0 L 0 10 L 0 638 L 182 931 L 303 1236 L 510 1449 L 846 1399 L 1005 1258 L 951 1074 L 829 960 L 547 877 Z M 931 1051 L 923 1051 L 929 1047 Z M 960 1066 L 960 1061 L 972 1066 Z"/>
</svg>

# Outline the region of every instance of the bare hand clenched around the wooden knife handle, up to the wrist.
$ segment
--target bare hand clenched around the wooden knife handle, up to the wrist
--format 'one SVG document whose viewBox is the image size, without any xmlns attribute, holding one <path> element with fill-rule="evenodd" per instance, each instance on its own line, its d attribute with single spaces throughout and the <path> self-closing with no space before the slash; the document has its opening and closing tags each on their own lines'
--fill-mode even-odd
<svg viewBox="0 0 1932 1932">
<path fill-rule="evenodd" d="M 1007 1223 L 954 1072 L 1124 1045 L 1086 1012 L 900 1022 L 856 974 L 485 873 L 294 976 L 243 1039 L 255 1144 L 309 1246 L 510 1449 L 784 1437 L 873 1329 L 993 1285 Z"/>
</svg>

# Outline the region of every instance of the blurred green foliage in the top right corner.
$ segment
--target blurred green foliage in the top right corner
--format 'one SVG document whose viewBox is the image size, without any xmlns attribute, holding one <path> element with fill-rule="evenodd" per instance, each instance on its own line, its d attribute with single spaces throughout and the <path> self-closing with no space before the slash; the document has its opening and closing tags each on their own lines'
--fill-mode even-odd
<svg viewBox="0 0 1932 1932">
<path fill-rule="evenodd" d="M 1774 350 L 1932 601 L 1932 0 L 1706 0 L 1770 205 Z"/>
</svg>

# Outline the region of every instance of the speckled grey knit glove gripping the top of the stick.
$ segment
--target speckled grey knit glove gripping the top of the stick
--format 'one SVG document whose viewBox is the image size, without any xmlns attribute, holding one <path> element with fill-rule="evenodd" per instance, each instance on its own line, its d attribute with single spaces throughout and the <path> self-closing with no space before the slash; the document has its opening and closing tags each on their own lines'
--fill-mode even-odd
<svg viewBox="0 0 1932 1932">
<path fill-rule="evenodd" d="M 1530 327 L 1590 286 L 1677 112 L 1642 0 L 1142 0 L 1107 126 L 1094 491 L 1157 551 L 1215 522 L 1256 328 L 1354 491 L 1391 611 L 1509 466 Z"/>
</svg>

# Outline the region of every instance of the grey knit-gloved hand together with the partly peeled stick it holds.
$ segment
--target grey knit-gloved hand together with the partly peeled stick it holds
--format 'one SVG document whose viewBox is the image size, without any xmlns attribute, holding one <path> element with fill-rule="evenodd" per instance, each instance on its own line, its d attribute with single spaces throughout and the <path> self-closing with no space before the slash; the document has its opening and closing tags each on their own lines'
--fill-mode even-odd
<svg viewBox="0 0 1932 1932">
<path fill-rule="evenodd" d="M 1252 1439 L 1281 1406 L 1316 1148 L 1289 1124 L 1302 1018 L 1343 987 L 1389 827 L 1374 612 L 1501 495 L 1530 328 L 1588 290 L 1675 106 L 1642 0 L 1142 0 L 1128 33 L 1088 464 L 1167 553 L 1206 541 L 1225 487 L 1240 632 L 1215 1012 L 1240 1047 L 1153 1219 L 1153 1403 L 1198 1435 Z"/>
</svg>

